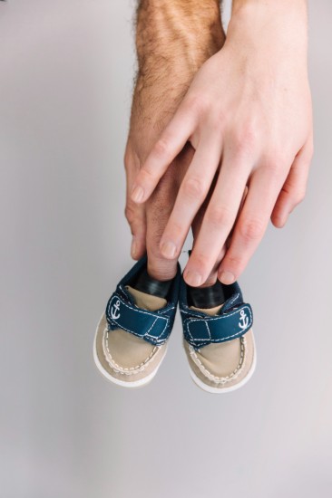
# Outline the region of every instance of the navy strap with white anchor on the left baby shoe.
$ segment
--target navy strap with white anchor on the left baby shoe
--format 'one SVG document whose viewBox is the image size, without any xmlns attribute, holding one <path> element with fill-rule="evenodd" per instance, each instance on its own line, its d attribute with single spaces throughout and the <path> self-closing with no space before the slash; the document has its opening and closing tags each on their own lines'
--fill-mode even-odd
<svg viewBox="0 0 332 498">
<path fill-rule="evenodd" d="M 117 292 L 112 294 L 107 303 L 106 320 L 111 330 L 126 330 L 155 345 L 165 342 L 171 330 L 167 316 L 141 310 L 131 302 L 124 301 Z"/>
</svg>

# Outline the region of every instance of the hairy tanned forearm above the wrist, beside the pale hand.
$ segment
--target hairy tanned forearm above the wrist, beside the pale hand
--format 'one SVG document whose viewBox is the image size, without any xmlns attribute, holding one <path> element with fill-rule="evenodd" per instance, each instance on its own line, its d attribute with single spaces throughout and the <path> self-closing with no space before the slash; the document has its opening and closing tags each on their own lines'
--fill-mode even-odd
<svg viewBox="0 0 332 498">
<path fill-rule="evenodd" d="M 224 41 L 220 0 L 141 0 L 132 119 L 139 116 L 142 126 L 157 120 L 162 128 L 195 73 Z"/>
</svg>

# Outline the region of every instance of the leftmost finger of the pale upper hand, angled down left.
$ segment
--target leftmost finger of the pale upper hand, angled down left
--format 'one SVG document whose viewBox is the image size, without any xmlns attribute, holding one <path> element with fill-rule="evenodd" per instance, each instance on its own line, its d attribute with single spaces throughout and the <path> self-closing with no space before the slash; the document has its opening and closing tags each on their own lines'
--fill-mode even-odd
<svg viewBox="0 0 332 498">
<path fill-rule="evenodd" d="M 131 193 L 134 202 L 143 203 L 151 196 L 171 161 L 181 152 L 195 129 L 194 110 L 195 108 L 190 108 L 188 100 L 184 99 L 161 133 L 135 179 Z"/>
</svg>

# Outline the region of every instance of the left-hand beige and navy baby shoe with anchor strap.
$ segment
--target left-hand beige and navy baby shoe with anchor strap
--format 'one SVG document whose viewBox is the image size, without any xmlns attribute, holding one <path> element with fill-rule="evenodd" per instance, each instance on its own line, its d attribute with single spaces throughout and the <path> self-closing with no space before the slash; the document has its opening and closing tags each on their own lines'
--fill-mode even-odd
<svg viewBox="0 0 332 498">
<path fill-rule="evenodd" d="M 135 263 L 107 302 L 93 343 L 105 378 L 126 388 L 147 384 L 164 359 L 179 298 L 181 268 L 167 282 L 147 273 L 147 256 Z"/>
</svg>

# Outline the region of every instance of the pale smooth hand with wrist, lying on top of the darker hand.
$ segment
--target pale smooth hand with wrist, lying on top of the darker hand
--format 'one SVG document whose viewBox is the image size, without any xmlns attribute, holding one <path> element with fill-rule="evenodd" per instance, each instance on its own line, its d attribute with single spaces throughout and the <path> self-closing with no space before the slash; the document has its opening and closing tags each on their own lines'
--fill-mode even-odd
<svg viewBox="0 0 332 498">
<path fill-rule="evenodd" d="M 184 278 L 193 286 L 204 283 L 239 215 L 219 271 L 221 282 L 233 283 L 269 218 L 284 225 L 305 195 L 313 145 L 303 0 L 233 3 L 226 43 L 200 68 L 151 149 L 132 188 L 134 202 L 151 196 L 187 140 L 196 152 L 161 237 L 161 254 L 178 257 L 219 171 Z"/>
</svg>

